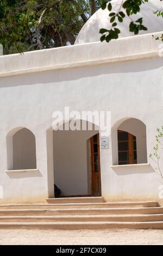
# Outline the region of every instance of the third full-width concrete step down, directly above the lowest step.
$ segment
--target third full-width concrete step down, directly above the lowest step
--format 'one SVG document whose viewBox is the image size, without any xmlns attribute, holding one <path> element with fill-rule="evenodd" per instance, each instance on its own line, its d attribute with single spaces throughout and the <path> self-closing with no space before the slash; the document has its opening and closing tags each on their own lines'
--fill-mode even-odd
<svg viewBox="0 0 163 256">
<path fill-rule="evenodd" d="M 70 216 L 0 216 L 1 222 L 154 222 L 163 221 L 163 214 L 155 215 L 70 215 Z"/>
</svg>

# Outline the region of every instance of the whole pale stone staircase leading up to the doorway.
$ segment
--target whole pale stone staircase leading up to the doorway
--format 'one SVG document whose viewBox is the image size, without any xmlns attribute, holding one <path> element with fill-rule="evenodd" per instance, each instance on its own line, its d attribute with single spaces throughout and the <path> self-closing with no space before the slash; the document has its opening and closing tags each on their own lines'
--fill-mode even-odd
<svg viewBox="0 0 163 256">
<path fill-rule="evenodd" d="M 102 197 L 52 198 L 47 204 L 0 205 L 0 228 L 163 229 L 163 207 Z"/>
</svg>

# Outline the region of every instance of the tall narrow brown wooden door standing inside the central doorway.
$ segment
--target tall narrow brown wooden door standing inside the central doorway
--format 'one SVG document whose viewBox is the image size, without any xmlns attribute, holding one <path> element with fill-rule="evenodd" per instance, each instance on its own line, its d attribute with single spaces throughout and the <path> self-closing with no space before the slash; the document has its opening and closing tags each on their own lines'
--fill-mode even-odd
<svg viewBox="0 0 163 256">
<path fill-rule="evenodd" d="M 91 138 L 92 196 L 101 196 L 99 133 Z"/>
</svg>

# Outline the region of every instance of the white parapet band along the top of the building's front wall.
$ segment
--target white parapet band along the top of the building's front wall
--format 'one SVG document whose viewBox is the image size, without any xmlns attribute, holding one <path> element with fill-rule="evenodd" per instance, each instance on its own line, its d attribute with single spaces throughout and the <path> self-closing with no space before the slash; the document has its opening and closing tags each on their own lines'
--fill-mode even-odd
<svg viewBox="0 0 163 256">
<path fill-rule="evenodd" d="M 153 35 L 161 34 L 130 36 L 109 44 L 91 42 L 1 56 L 0 77 L 159 57 L 160 41 L 154 40 Z"/>
</svg>

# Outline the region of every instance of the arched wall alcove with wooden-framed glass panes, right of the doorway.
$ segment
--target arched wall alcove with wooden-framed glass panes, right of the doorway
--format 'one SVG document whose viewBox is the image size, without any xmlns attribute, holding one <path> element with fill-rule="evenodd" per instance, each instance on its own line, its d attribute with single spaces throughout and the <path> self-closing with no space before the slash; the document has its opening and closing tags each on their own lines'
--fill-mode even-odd
<svg viewBox="0 0 163 256">
<path fill-rule="evenodd" d="M 114 165 L 147 163 L 146 125 L 128 118 L 112 127 L 112 161 Z"/>
</svg>

